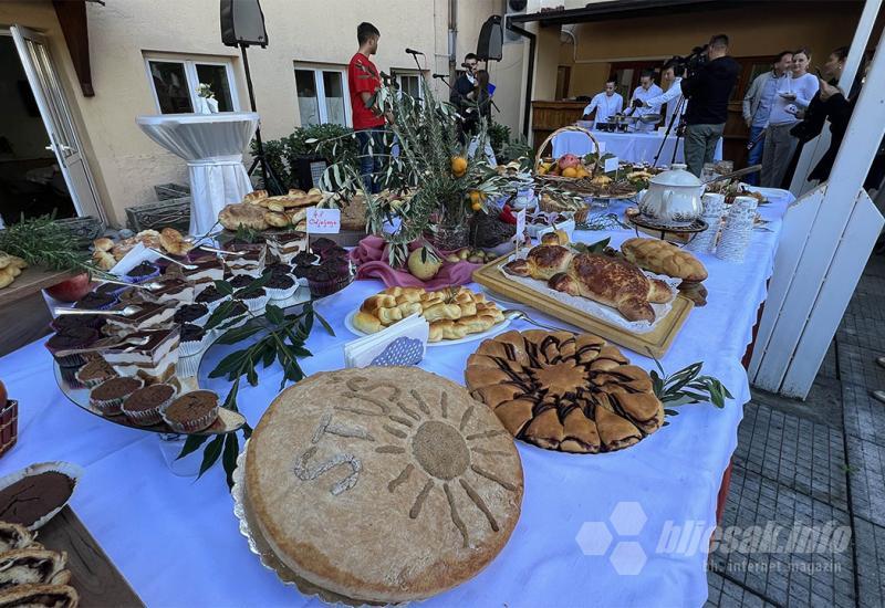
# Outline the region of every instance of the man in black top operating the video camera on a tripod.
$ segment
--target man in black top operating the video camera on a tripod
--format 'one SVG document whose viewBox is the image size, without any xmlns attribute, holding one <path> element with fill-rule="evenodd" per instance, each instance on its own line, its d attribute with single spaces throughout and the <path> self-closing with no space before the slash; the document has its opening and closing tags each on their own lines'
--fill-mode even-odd
<svg viewBox="0 0 885 608">
<path fill-rule="evenodd" d="M 698 177 L 704 164 L 712 163 L 739 75 L 740 64 L 728 55 L 728 36 L 717 34 L 707 45 L 707 62 L 680 83 L 690 99 L 685 113 L 685 159 L 688 170 Z"/>
</svg>

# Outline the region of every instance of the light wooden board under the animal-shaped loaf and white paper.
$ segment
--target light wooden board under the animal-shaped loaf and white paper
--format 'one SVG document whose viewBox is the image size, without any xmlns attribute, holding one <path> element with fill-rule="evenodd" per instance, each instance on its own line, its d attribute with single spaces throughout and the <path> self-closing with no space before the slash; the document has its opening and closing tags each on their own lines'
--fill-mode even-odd
<svg viewBox="0 0 885 608">
<path fill-rule="evenodd" d="M 677 294 L 676 300 L 673 301 L 670 312 L 660 319 L 653 331 L 644 334 L 634 334 L 623 327 L 611 325 L 591 316 L 584 311 L 563 304 L 543 292 L 509 281 L 500 271 L 500 266 L 507 263 L 508 258 L 510 258 L 509 254 L 475 271 L 473 281 L 500 294 L 502 297 L 522 302 L 544 314 L 560 318 L 575 327 L 586 329 L 591 334 L 629 348 L 641 355 L 647 356 L 650 354 L 654 357 L 663 357 L 669 349 L 670 344 L 673 344 L 676 334 L 679 333 L 683 323 L 688 318 L 688 313 L 695 306 L 683 294 Z"/>
</svg>

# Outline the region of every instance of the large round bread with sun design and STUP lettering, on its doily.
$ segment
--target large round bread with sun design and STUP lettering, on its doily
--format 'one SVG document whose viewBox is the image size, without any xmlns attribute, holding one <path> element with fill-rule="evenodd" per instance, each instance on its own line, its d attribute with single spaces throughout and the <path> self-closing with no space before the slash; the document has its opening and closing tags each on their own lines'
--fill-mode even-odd
<svg viewBox="0 0 885 608">
<path fill-rule="evenodd" d="M 251 551 L 330 602 L 416 601 L 473 578 L 522 505 L 519 453 L 491 409 L 415 367 L 289 387 L 237 464 L 233 512 Z"/>
</svg>

